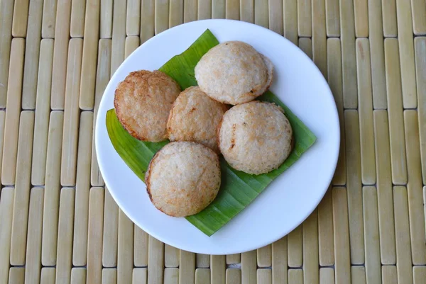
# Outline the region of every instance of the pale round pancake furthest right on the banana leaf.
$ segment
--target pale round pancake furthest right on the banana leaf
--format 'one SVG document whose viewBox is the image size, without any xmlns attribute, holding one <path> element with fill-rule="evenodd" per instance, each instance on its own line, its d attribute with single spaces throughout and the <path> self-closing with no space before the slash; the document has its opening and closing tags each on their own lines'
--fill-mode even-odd
<svg viewBox="0 0 426 284">
<path fill-rule="evenodd" d="M 277 169 L 293 147 L 290 122 L 274 103 L 251 101 L 232 107 L 218 132 L 219 149 L 228 164 L 248 174 Z"/>
</svg>

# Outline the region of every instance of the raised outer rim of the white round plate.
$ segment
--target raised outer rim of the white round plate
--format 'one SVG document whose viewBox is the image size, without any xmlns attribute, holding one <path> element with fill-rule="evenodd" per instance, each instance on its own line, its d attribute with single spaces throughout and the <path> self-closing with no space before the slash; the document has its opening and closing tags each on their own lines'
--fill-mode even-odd
<svg viewBox="0 0 426 284">
<path fill-rule="evenodd" d="M 158 36 L 163 36 L 163 35 L 165 35 L 165 34 L 167 34 L 167 33 L 173 33 L 173 30 L 175 30 L 175 29 L 177 29 L 177 28 L 182 28 L 182 25 L 194 25 L 195 23 L 200 23 L 200 22 L 211 22 L 211 23 L 213 23 L 213 25 L 214 25 L 214 22 L 217 22 L 217 23 L 219 23 L 219 22 L 227 22 L 227 23 L 232 23 L 232 22 L 238 22 L 239 24 L 244 24 L 244 25 L 247 25 L 247 26 L 256 26 L 256 28 L 260 28 L 261 30 L 263 30 L 263 33 L 273 33 L 274 35 L 273 36 L 275 36 L 276 37 L 276 35 L 279 35 L 280 37 L 281 37 L 281 40 L 284 40 L 284 41 L 286 41 L 288 44 L 290 44 L 290 45 L 293 45 L 293 47 L 296 47 L 297 48 L 297 50 L 299 51 L 299 53 L 300 53 L 300 55 L 301 56 L 305 56 L 305 57 L 307 57 L 307 59 L 309 59 L 310 60 L 310 63 L 311 63 L 311 65 L 312 65 L 312 67 L 314 68 L 314 69 L 316 69 L 316 72 L 320 75 L 319 76 L 319 79 L 320 80 L 322 80 L 322 81 L 324 81 L 324 83 L 325 83 L 325 85 L 324 86 L 326 86 L 326 91 L 327 91 L 327 94 L 328 94 L 328 96 L 331 96 L 331 98 L 332 98 L 332 102 L 334 103 L 333 104 L 333 110 L 334 110 L 334 118 L 337 118 L 337 129 L 335 130 L 335 131 L 337 131 L 337 141 L 335 141 L 336 142 L 336 144 L 337 144 L 337 147 L 334 147 L 334 156 L 335 156 L 335 159 L 333 160 L 333 162 L 331 163 L 332 164 L 332 166 L 330 166 L 330 169 L 332 169 L 332 174 L 330 174 L 330 176 L 329 176 L 329 178 L 327 178 L 327 183 L 329 184 L 328 186 L 326 186 L 325 188 L 319 188 L 320 190 L 321 190 L 321 194 L 318 194 L 317 196 L 318 196 L 318 198 L 317 198 L 317 200 L 315 200 L 315 206 L 312 206 L 312 208 L 310 208 L 310 210 L 308 210 L 307 212 L 306 212 L 306 214 L 305 215 L 303 215 L 303 217 L 301 217 L 301 218 L 298 218 L 298 219 L 300 219 L 301 221 L 300 222 L 298 222 L 298 224 L 296 224 L 295 226 L 293 226 L 293 228 L 291 228 L 291 229 L 288 229 L 288 232 L 285 232 L 285 230 L 283 230 L 282 231 L 282 234 L 280 234 L 280 236 L 278 236 L 278 237 L 274 237 L 274 238 L 264 238 L 265 240 L 262 242 L 262 241 L 258 241 L 258 242 L 256 242 L 254 245 L 253 245 L 253 242 L 252 242 L 252 245 L 251 246 L 246 246 L 246 249 L 244 250 L 244 251 L 241 251 L 241 250 L 232 250 L 232 249 L 226 249 L 226 251 L 219 251 L 219 252 L 215 252 L 215 251 L 210 251 L 210 250 L 203 250 L 203 251 L 200 251 L 200 250 L 192 250 L 192 249 L 190 249 L 190 247 L 188 246 L 188 245 L 186 245 L 186 246 L 175 246 L 175 244 L 172 244 L 172 243 L 170 243 L 170 242 L 168 242 L 170 239 L 173 239 L 173 238 L 163 238 L 162 237 L 162 235 L 160 235 L 160 234 L 156 234 L 155 232 L 153 232 L 153 231 L 151 231 L 151 230 L 148 230 L 148 229 L 144 229 L 143 228 L 143 226 L 141 226 L 140 225 L 140 222 L 138 222 L 138 220 L 136 220 L 136 218 L 134 218 L 133 217 L 133 215 L 131 215 L 131 214 L 129 214 L 128 212 L 127 212 L 127 210 L 126 210 L 126 207 L 124 206 L 124 205 L 122 205 L 120 202 L 119 202 L 119 200 L 118 200 L 118 198 L 116 198 L 116 193 L 115 193 L 115 191 L 111 191 L 110 190 L 110 186 L 108 186 L 108 180 L 109 180 L 109 178 L 108 177 L 106 177 L 106 176 L 104 176 L 104 174 L 103 174 L 103 172 L 104 172 L 104 166 L 103 166 L 103 164 L 102 164 L 102 162 L 100 162 L 99 161 L 99 157 L 100 157 L 100 155 L 99 155 L 99 121 L 101 121 L 101 120 L 99 120 L 99 116 L 101 115 L 101 111 L 99 111 L 99 110 L 101 110 L 101 108 L 102 108 L 102 106 L 104 105 L 104 101 L 106 100 L 105 98 L 106 98 L 106 96 L 105 96 L 105 93 L 107 93 L 107 91 L 110 91 L 109 89 L 111 89 L 111 86 L 109 86 L 110 84 L 111 84 L 111 81 L 114 81 L 114 78 L 116 77 L 116 76 L 118 76 L 118 74 L 120 73 L 119 71 L 120 71 L 120 69 L 124 66 L 124 62 L 126 62 L 126 61 L 129 61 L 129 60 L 131 60 L 132 59 L 132 57 L 133 56 L 135 56 L 136 55 L 136 53 L 137 53 L 137 50 L 139 50 L 139 49 L 141 49 L 142 47 L 143 47 L 143 45 L 146 45 L 148 42 L 151 42 L 151 41 L 153 41 L 153 40 L 155 40 L 155 38 L 158 38 Z M 208 29 L 208 28 L 206 28 L 206 29 Z M 176 55 L 178 55 L 179 53 L 177 53 Z M 166 60 L 166 62 L 168 61 L 168 59 Z M 158 67 L 159 68 L 159 67 Z M 116 203 L 116 205 L 119 207 L 119 209 L 121 209 L 123 212 L 124 212 L 124 214 L 127 216 L 127 217 L 129 217 L 129 219 L 136 225 L 136 226 L 138 226 L 138 227 L 140 227 L 141 229 L 143 229 L 143 231 L 144 232 L 146 232 L 147 234 L 149 234 L 149 235 L 151 235 L 152 237 L 155 237 L 155 239 L 158 239 L 160 242 L 163 242 L 164 244 L 169 244 L 169 245 L 171 245 L 171 246 L 175 246 L 176 248 L 178 248 L 178 249 L 183 249 L 183 250 L 186 250 L 186 251 L 191 251 L 191 252 L 194 252 L 194 253 L 199 253 L 199 254 L 211 254 L 211 255 L 223 255 L 223 254 L 239 254 L 239 253 L 243 253 L 243 252 L 245 252 L 245 251 L 251 251 L 251 250 L 254 250 L 254 249 L 258 249 L 258 248 L 261 248 L 262 246 L 266 246 L 267 244 L 272 244 L 273 242 L 276 242 L 276 241 L 278 241 L 279 239 L 281 239 L 281 238 L 283 238 L 283 237 L 285 237 L 286 235 L 288 235 L 290 232 L 292 232 L 296 227 L 298 227 L 299 225 L 302 225 L 302 223 L 303 222 L 305 222 L 305 220 L 307 219 L 307 217 L 309 217 L 311 214 L 312 214 L 312 212 L 314 212 L 314 210 L 318 207 L 318 205 L 320 204 L 320 202 L 321 202 L 321 200 L 324 198 L 324 195 L 327 193 L 327 191 L 329 190 L 329 188 L 330 188 L 330 186 L 331 186 L 331 183 L 332 183 L 332 178 L 333 178 L 333 176 L 334 176 L 334 173 L 335 173 L 335 171 L 336 171 L 336 169 L 337 169 L 337 163 L 338 163 L 338 161 L 339 161 L 339 152 L 340 152 L 340 143 L 341 143 L 341 122 L 340 122 L 340 119 L 339 119 L 339 113 L 338 113 L 338 110 L 337 110 L 337 103 L 336 103 L 336 100 L 335 100 L 335 98 L 334 98 L 334 95 L 333 95 L 333 93 L 332 93 L 332 90 L 331 90 L 331 88 L 330 88 L 330 86 L 329 86 L 329 83 L 328 83 L 328 81 L 327 81 L 327 79 L 325 79 L 325 77 L 324 77 L 324 75 L 322 74 L 322 72 L 320 71 L 320 69 L 319 69 L 319 67 L 317 67 L 317 64 L 315 64 L 315 62 L 313 62 L 313 60 L 310 58 L 310 57 L 308 57 L 306 54 L 305 54 L 305 52 L 303 52 L 301 49 L 300 49 L 300 47 L 298 47 L 297 45 L 295 45 L 293 42 L 291 42 L 290 40 L 288 40 L 287 38 L 285 38 L 283 35 L 280 35 L 280 34 L 278 34 L 278 33 L 275 33 L 273 30 L 269 30 L 268 28 L 264 28 L 263 26 L 261 26 L 261 25 L 256 25 L 256 24 L 254 24 L 254 23 L 249 23 L 249 22 L 245 22 L 245 21 L 238 21 L 238 20 L 231 20 L 231 19 L 204 19 L 204 20 L 197 20 L 197 21 L 191 21 L 191 22 L 188 22 L 188 23 L 182 23 L 182 24 L 180 24 L 180 25 L 175 25 L 173 28 L 168 28 L 167 30 L 164 30 L 163 32 L 161 32 L 161 33 L 158 33 L 157 35 L 155 35 L 155 36 L 153 36 L 152 38 L 150 38 L 150 39 L 148 39 L 148 40 L 146 40 L 146 42 L 143 42 L 143 44 L 142 45 L 139 45 L 137 48 L 136 48 L 136 50 L 133 50 L 133 52 L 131 52 L 131 54 L 128 56 L 128 57 L 126 57 L 124 60 L 123 60 L 123 62 L 121 62 L 121 64 L 119 64 L 119 67 L 117 67 L 116 68 L 116 70 L 115 70 L 115 72 L 114 72 L 114 74 L 112 74 L 112 76 L 111 76 L 111 74 L 110 74 L 110 78 L 109 78 L 109 81 L 108 81 L 108 84 L 105 86 L 105 89 L 104 89 L 104 92 L 102 93 L 102 98 L 101 98 L 101 100 L 99 101 L 99 107 L 98 107 L 98 111 L 97 111 L 97 117 L 96 117 L 96 124 L 95 124 L 95 129 L 94 129 L 94 143 L 95 143 L 95 152 L 96 152 L 96 156 L 97 156 L 97 163 L 98 163 L 98 167 L 99 167 L 99 171 L 101 172 L 101 174 L 102 174 L 102 178 L 103 178 L 103 180 L 104 180 L 104 189 L 105 190 L 107 190 L 107 191 L 109 191 L 109 193 L 111 194 L 111 197 L 114 199 L 114 202 Z M 109 137 L 108 137 L 109 138 Z M 111 140 L 110 139 L 108 139 L 109 140 L 109 143 L 111 143 Z M 113 147 L 114 148 L 114 147 Z M 309 149 L 308 149 L 308 151 L 309 151 Z M 337 154 L 336 154 L 337 153 Z M 131 170 L 130 170 L 131 171 Z M 132 172 L 133 173 L 133 172 Z M 134 174 L 134 173 L 133 173 Z M 301 214 L 302 215 L 302 214 Z M 225 225 L 226 226 L 226 225 Z M 209 246 L 207 246 L 207 247 L 209 247 Z"/>
</svg>

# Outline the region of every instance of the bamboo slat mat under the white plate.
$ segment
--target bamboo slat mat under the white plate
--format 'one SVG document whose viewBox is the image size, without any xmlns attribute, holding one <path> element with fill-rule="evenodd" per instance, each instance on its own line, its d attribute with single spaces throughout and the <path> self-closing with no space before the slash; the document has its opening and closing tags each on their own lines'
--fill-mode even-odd
<svg viewBox="0 0 426 284">
<path fill-rule="evenodd" d="M 319 207 L 244 254 L 192 254 L 148 236 L 104 187 L 92 143 L 124 58 L 204 18 L 299 45 L 342 124 Z M 426 283 L 425 35 L 424 0 L 0 0 L 0 284 Z"/>
</svg>

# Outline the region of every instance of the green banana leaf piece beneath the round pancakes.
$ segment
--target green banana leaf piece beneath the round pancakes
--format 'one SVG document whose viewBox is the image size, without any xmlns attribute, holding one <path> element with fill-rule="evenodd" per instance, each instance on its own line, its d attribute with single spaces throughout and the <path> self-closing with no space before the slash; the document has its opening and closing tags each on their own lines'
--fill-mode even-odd
<svg viewBox="0 0 426 284">
<path fill-rule="evenodd" d="M 185 52 L 170 59 L 159 70 L 175 79 L 182 89 L 196 86 L 195 65 L 202 55 L 217 44 L 219 44 L 217 38 L 210 30 L 206 30 Z M 207 236 L 212 236 L 249 206 L 274 178 L 283 174 L 315 143 L 315 135 L 271 91 L 267 91 L 258 99 L 276 103 L 285 110 L 285 115 L 293 127 L 295 147 L 288 159 L 278 169 L 261 175 L 250 175 L 236 171 L 221 157 L 222 186 L 217 198 L 201 212 L 186 217 L 192 225 Z M 107 112 L 107 130 L 116 152 L 129 168 L 144 181 L 149 161 L 155 152 L 168 141 L 152 143 L 136 140 L 121 126 L 114 109 Z"/>
</svg>

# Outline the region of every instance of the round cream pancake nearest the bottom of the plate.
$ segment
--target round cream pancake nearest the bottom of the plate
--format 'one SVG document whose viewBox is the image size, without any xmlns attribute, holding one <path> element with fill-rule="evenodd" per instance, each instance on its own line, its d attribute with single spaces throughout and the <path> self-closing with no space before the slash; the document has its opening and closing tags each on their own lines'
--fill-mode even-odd
<svg viewBox="0 0 426 284">
<path fill-rule="evenodd" d="M 194 215 L 216 198 L 219 157 L 196 142 L 170 142 L 151 159 L 145 179 L 155 208 L 174 217 Z"/>
</svg>

